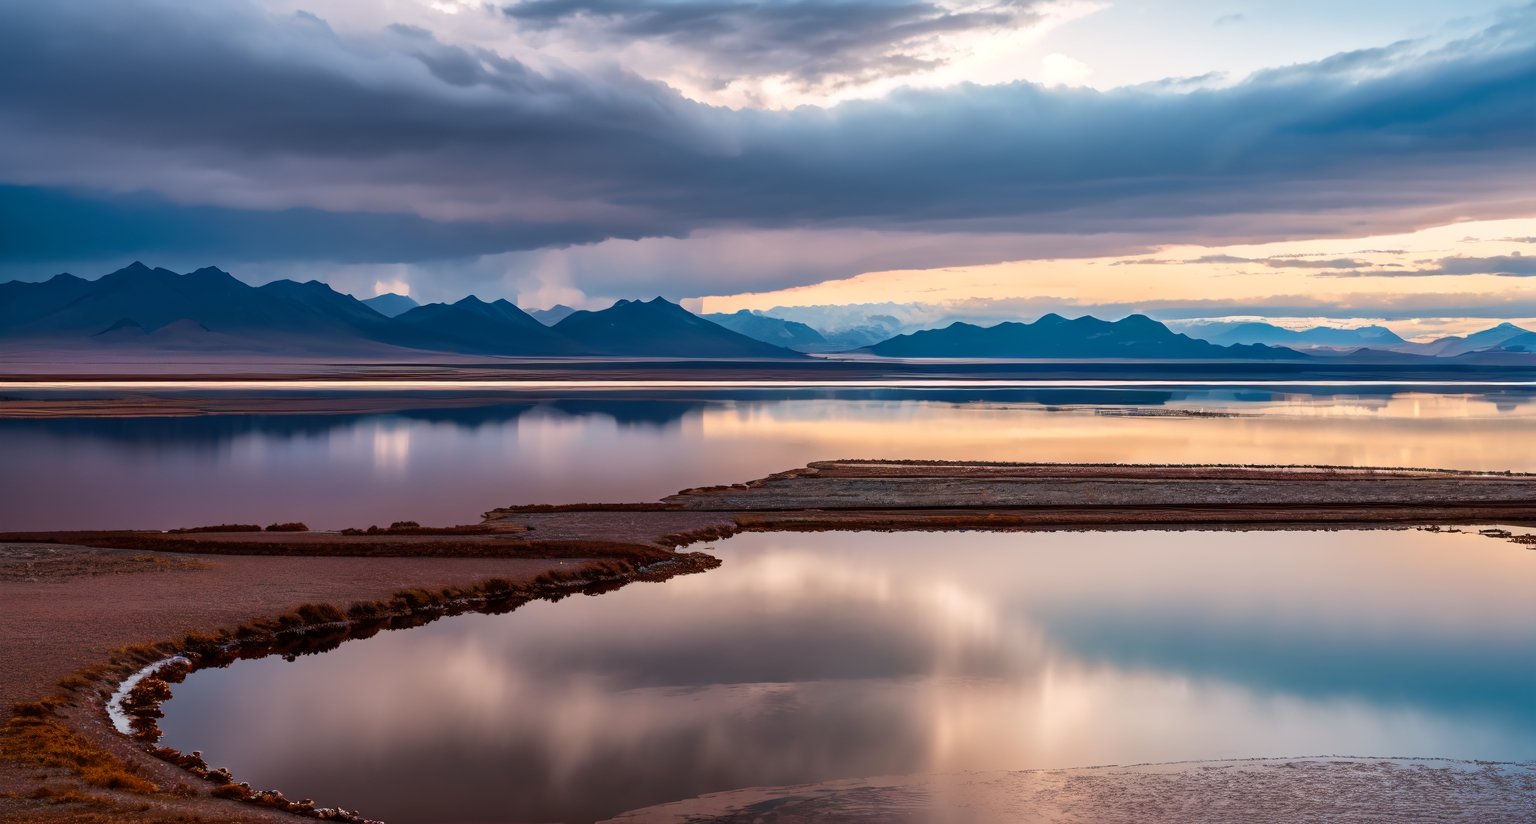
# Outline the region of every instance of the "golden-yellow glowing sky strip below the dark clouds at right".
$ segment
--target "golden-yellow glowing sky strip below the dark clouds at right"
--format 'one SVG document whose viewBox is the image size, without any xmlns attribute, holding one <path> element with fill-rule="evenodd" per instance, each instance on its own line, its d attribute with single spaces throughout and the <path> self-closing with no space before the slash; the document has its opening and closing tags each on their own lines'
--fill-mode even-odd
<svg viewBox="0 0 1536 824">
<path fill-rule="evenodd" d="M 1155 251 L 1092 258 L 1020 260 L 937 269 L 865 272 L 773 292 L 708 295 L 697 300 L 703 312 L 766 311 L 776 306 L 826 306 L 860 303 L 926 303 L 955 311 L 985 309 L 988 303 L 1031 301 L 1034 315 L 1057 301 L 1064 314 L 1092 314 L 1095 306 L 1230 301 L 1263 307 L 1316 304 L 1318 315 L 1279 312 L 1281 320 L 1301 326 L 1306 320 L 1335 326 L 1375 321 L 1382 307 L 1421 306 L 1422 317 L 1379 321 L 1409 338 L 1430 340 L 1465 334 L 1511 321 L 1536 324 L 1536 277 L 1392 275 L 1424 271 L 1444 258 L 1493 258 L 1536 255 L 1536 218 L 1452 223 L 1415 232 L 1355 238 L 1312 238 L 1258 244 L 1170 244 Z M 1201 261 L 1206 258 L 1207 261 Z M 1224 258 L 1209 261 L 1209 258 Z M 1243 258 L 1243 260 L 1238 260 Z M 1342 258 L 1355 267 L 1326 267 Z M 1381 272 L 1381 274 L 1373 274 Z M 1438 317 L 1436 309 L 1458 304 L 1533 306 L 1528 317 L 1465 315 Z M 1338 312 L 1321 309 L 1359 306 L 1353 323 L 1339 323 Z M 1005 306 L 1006 307 L 1006 306 Z M 1378 314 L 1373 314 L 1378 312 Z M 1124 314 L 1124 312 L 1123 312 Z M 1025 312 L 1028 315 L 1028 312 Z M 1213 304 L 1203 317 L 1264 317 L 1253 309 L 1223 311 Z M 1008 320 L 998 315 L 998 320 Z M 1490 323 L 1491 321 L 1491 323 Z"/>
</svg>

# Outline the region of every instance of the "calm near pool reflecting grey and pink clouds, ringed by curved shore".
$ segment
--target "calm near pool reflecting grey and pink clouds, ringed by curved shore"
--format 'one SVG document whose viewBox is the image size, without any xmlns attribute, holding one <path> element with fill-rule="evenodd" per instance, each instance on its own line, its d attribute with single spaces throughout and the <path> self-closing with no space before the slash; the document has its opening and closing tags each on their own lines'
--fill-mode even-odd
<svg viewBox="0 0 1536 824">
<path fill-rule="evenodd" d="M 1536 759 L 1536 552 L 1476 535 L 742 535 L 664 584 L 194 673 L 167 743 L 392 824 L 1299 755 Z"/>
</svg>

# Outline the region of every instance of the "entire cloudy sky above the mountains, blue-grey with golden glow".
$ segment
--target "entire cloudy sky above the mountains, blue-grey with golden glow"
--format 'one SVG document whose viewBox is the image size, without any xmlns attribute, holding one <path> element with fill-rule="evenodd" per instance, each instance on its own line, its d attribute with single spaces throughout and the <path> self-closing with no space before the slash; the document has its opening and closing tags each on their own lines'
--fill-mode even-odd
<svg viewBox="0 0 1536 824">
<path fill-rule="evenodd" d="M 1536 5 L 0 3 L 0 280 L 1536 318 Z"/>
</svg>

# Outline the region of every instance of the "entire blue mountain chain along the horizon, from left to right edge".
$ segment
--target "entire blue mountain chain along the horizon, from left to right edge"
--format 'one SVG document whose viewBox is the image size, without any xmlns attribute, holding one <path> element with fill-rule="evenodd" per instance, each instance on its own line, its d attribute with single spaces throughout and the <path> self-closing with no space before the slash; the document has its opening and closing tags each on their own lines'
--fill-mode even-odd
<svg viewBox="0 0 1536 824">
<path fill-rule="evenodd" d="M 790 314 L 790 311 L 785 311 Z M 1284 329 L 1197 323 L 1174 332 L 1143 315 L 1117 321 L 1049 314 L 1032 323 L 951 323 L 903 329 L 891 315 L 819 329 L 768 312 L 694 315 L 654 298 L 602 311 L 524 311 L 465 297 L 418 304 L 404 295 L 358 300 L 319 281 L 249 286 L 204 267 L 178 274 L 134 263 L 97 280 L 55 275 L 0 284 L 0 346 L 63 352 L 174 351 L 246 355 L 387 357 L 392 352 L 539 358 L 800 360 L 865 358 L 1241 360 L 1536 363 L 1536 334 L 1513 324 L 1433 343 L 1390 329 Z"/>
</svg>

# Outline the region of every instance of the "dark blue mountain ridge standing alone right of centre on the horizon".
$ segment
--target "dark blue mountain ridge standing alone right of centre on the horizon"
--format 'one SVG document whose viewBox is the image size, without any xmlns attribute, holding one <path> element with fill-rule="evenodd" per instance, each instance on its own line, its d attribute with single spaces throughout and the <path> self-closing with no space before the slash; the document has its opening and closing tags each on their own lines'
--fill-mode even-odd
<svg viewBox="0 0 1536 824">
<path fill-rule="evenodd" d="M 1146 315 L 1106 321 L 1095 317 L 1068 320 L 1049 314 L 1034 323 L 952 323 L 943 329 L 897 335 L 866 352 L 889 358 L 1306 360 L 1306 355 L 1283 347 L 1220 346 L 1195 340 L 1172 332 Z"/>
</svg>

